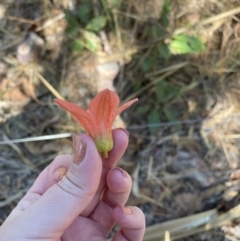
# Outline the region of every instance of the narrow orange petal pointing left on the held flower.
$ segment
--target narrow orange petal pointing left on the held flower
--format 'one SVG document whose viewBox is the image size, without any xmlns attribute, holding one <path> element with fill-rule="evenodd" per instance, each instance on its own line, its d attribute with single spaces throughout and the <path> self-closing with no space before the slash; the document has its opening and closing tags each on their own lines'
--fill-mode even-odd
<svg viewBox="0 0 240 241">
<path fill-rule="evenodd" d="M 56 102 L 61 108 L 64 110 L 70 112 L 84 127 L 84 129 L 90 134 L 91 129 L 93 128 L 93 116 L 83 110 L 80 106 L 68 102 L 65 100 L 59 100 L 59 99 L 54 99 L 54 102 Z"/>
</svg>

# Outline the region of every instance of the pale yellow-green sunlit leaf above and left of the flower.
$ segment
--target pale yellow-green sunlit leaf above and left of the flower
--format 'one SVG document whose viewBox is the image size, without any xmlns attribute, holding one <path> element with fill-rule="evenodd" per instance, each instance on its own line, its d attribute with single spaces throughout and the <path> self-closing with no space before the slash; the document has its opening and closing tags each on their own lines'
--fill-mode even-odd
<svg viewBox="0 0 240 241">
<path fill-rule="evenodd" d="M 97 52 L 101 49 L 101 40 L 100 38 L 92 32 L 83 31 L 84 45 L 91 52 Z"/>
</svg>

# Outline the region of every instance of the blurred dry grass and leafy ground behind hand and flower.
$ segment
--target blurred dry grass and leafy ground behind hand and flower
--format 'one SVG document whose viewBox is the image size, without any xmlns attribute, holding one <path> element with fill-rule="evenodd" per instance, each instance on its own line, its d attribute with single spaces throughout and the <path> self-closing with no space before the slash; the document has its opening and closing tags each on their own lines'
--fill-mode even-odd
<svg viewBox="0 0 240 241">
<path fill-rule="evenodd" d="M 239 240 L 239 40 L 238 0 L 2 0 L 0 222 L 110 88 L 144 240 Z"/>
</svg>

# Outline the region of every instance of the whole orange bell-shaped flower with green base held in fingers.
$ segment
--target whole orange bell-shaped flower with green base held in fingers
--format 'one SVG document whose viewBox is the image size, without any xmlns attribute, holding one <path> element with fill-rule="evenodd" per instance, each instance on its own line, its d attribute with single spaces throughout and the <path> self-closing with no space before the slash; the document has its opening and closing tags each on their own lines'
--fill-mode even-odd
<svg viewBox="0 0 240 241">
<path fill-rule="evenodd" d="M 105 89 L 93 98 L 89 104 L 89 109 L 86 111 L 68 101 L 59 99 L 54 101 L 70 112 L 82 124 L 93 138 L 98 151 L 104 157 L 108 157 L 108 152 L 113 148 L 112 124 L 115 117 L 138 99 L 131 100 L 117 109 L 118 95 L 109 89 Z"/>
</svg>

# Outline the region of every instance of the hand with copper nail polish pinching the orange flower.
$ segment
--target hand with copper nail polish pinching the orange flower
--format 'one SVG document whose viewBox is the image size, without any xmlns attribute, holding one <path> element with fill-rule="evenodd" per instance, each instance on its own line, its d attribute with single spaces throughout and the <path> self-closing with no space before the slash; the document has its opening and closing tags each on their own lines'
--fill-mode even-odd
<svg viewBox="0 0 240 241">
<path fill-rule="evenodd" d="M 142 240 L 142 211 L 124 207 L 131 177 L 114 168 L 128 136 L 116 129 L 113 138 L 114 147 L 102 160 L 89 136 L 76 135 L 74 158 L 58 156 L 40 173 L 0 227 L 1 241 L 104 241 L 115 223 L 120 229 L 112 241 Z"/>
</svg>

